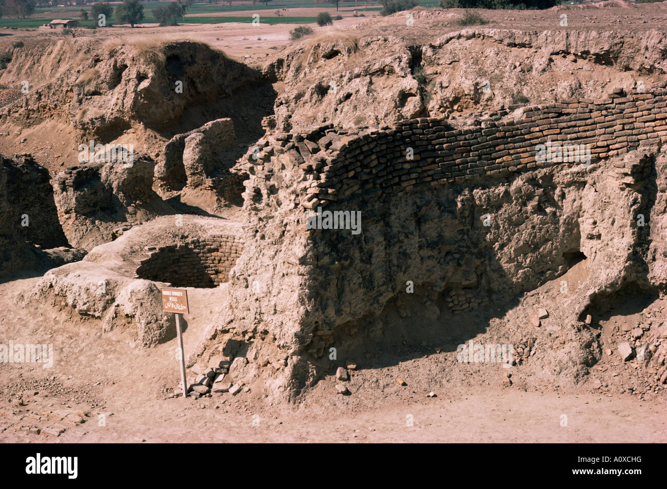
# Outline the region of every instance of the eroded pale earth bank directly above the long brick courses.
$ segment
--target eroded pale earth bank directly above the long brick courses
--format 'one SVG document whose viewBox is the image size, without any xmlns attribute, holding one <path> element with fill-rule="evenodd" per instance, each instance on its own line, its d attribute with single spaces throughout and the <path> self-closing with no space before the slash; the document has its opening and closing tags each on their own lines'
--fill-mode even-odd
<svg viewBox="0 0 667 489">
<path fill-rule="evenodd" d="M 412 13 L 419 29 L 428 31 L 428 21 Z M 498 110 L 516 104 L 518 94 L 533 103 L 595 99 L 610 80 L 628 91 L 640 85 L 648 90 L 667 73 L 667 38 L 656 30 L 470 27 L 426 42 L 354 34 L 303 39 L 264 67 L 287 86 L 275 103 L 279 131 L 323 123 L 354 130 Z"/>
</svg>

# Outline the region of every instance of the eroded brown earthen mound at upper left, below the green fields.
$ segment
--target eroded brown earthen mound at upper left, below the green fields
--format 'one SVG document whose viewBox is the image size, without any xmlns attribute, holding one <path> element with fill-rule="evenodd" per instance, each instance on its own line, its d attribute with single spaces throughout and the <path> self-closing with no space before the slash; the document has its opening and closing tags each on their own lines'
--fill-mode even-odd
<svg viewBox="0 0 667 489">
<path fill-rule="evenodd" d="M 84 142 L 109 143 L 137 124 L 170 137 L 223 115 L 257 132 L 266 115 L 259 107 L 256 117 L 233 110 L 235 97 L 266 84 L 261 73 L 193 41 L 81 38 L 26 46 L 14 51 L 0 81 L 31 87 L 3 108 L 0 121 L 66 121 Z"/>
</svg>

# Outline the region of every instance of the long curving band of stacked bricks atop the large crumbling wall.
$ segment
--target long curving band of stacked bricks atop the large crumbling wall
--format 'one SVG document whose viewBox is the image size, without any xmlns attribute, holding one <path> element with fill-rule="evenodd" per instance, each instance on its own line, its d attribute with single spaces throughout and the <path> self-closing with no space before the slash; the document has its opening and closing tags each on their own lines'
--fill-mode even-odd
<svg viewBox="0 0 667 489">
<path fill-rule="evenodd" d="M 547 141 L 590 145 L 591 162 L 667 142 L 666 93 L 526 107 L 520 120 L 484 119 L 467 129 L 451 130 L 446 119 L 429 117 L 352 135 L 340 151 L 329 151 L 317 198 L 325 205 L 357 189 L 372 198 L 559 164 L 536 159 L 536 146 Z"/>
</svg>

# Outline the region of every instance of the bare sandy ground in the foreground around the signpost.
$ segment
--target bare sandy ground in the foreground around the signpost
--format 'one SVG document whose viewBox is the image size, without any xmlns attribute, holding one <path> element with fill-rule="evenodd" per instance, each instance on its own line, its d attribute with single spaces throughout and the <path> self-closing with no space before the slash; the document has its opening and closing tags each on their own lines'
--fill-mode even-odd
<svg viewBox="0 0 667 489">
<path fill-rule="evenodd" d="M 20 303 L 37 280 L 2 284 L 3 302 Z M 188 316 L 186 352 L 224 301 L 220 292 L 191 290 L 198 314 Z M 664 396 L 559 392 L 522 382 L 514 369 L 517 382 L 506 386 L 500 364 L 456 364 L 456 352 L 430 348 L 350 371 L 350 396 L 336 394 L 330 375 L 295 405 L 271 404 L 261 386 L 171 397 L 173 341 L 133 349 L 124 332 L 103 335 L 99 322 L 76 316 L 45 306 L 0 320 L 0 342 L 53 343 L 52 368 L 0 370 L 0 442 L 667 442 Z"/>
</svg>

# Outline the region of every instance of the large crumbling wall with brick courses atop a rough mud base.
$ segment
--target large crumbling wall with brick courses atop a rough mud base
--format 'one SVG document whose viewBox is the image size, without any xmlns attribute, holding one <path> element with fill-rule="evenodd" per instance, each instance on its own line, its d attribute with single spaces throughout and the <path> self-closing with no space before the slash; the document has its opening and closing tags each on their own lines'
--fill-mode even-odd
<svg viewBox="0 0 667 489">
<path fill-rule="evenodd" d="M 267 376 L 291 396 L 317 379 L 329 348 L 342 354 L 358 345 L 355 335 L 382 336 L 389 309 L 406 316 L 408 282 L 426 290 L 430 324 L 441 328 L 441 315 L 490 301 L 508 309 L 579 260 L 594 272 L 590 289 L 564 306 L 574 324 L 596 294 L 658 286 L 638 216 L 654 209 L 664 91 L 618 91 L 511 117 L 462 129 L 443 119 L 354 132 L 323 126 L 258 141 L 259 153 L 246 157 L 245 246 L 218 338 L 273 338 L 289 360 L 279 374 L 267 366 Z M 542 159 L 538 145 L 548 141 L 586 150 Z M 349 219 L 312 229 L 325 211 L 360 213 L 358 229 Z M 579 345 L 569 350 L 578 359 L 568 364 L 571 379 L 600 354 L 588 336 L 571 338 Z"/>
</svg>

